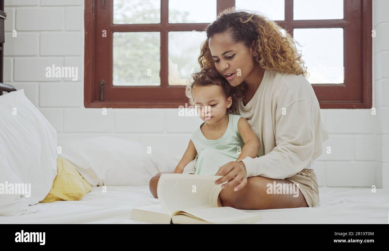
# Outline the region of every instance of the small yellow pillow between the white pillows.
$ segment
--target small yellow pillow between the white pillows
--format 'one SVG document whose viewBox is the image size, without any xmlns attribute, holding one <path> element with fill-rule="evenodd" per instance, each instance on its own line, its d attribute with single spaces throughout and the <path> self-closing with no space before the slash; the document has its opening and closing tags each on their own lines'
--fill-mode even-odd
<svg viewBox="0 0 389 251">
<path fill-rule="evenodd" d="M 81 200 L 92 190 L 91 185 L 82 178 L 74 165 L 62 157 L 57 158 L 57 172 L 53 187 L 41 202 Z"/>
</svg>

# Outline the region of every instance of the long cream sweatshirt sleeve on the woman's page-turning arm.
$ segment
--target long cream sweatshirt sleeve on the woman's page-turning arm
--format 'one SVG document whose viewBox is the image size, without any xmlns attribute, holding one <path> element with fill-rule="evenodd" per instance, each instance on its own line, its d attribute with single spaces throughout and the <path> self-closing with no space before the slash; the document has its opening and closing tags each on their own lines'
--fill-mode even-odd
<svg viewBox="0 0 389 251">
<path fill-rule="evenodd" d="M 308 166 L 314 151 L 315 108 L 307 100 L 285 107 L 286 114 L 276 116 L 275 143 L 271 152 L 252 159 L 246 157 L 247 178 L 263 176 L 284 179 Z"/>
</svg>

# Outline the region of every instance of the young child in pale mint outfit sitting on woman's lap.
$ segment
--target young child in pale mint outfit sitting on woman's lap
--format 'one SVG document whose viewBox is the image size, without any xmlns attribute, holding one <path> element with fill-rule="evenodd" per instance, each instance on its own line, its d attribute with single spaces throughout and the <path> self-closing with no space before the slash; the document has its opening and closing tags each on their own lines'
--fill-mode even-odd
<svg viewBox="0 0 389 251">
<path fill-rule="evenodd" d="M 231 87 L 212 69 L 203 69 L 191 77 L 193 80 L 186 88 L 186 96 L 204 122 L 191 134 L 174 173 L 182 173 L 197 155 L 196 174 L 203 175 L 215 175 L 221 166 L 231 161 L 247 156 L 255 158 L 259 151 L 256 134 L 247 120 L 231 114 L 242 98 L 242 87 Z"/>
</svg>

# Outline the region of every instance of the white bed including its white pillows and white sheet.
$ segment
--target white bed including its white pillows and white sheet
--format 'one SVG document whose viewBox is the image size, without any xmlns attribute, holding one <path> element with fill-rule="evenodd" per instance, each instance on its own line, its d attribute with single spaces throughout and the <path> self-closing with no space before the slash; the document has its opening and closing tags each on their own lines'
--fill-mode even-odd
<svg viewBox="0 0 389 251">
<path fill-rule="evenodd" d="M 12 86 L 0 85 L 1 88 L 12 91 L 0 99 L 1 117 L 12 123 L 0 123 L 0 183 L 32 183 L 33 196 L 2 195 L 0 214 L 27 214 L 0 216 L 0 224 L 142 223 L 130 219 L 131 209 L 159 204 L 146 184 L 156 173 L 172 171 L 179 157 L 155 149 L 151 154 L 151 148 L 116 137 L 57 144 L 54 127 L 24 91 L 15 91 Z M 15 107 L 18 116 L 10 113 Z M 79 201 L 36 204 L 49 193 L 57 175 L 57 146 L 61 146 L 62 157 L 93 186 L 92 191 Z M 107 185 L 107 192 L 103 192 L 103 184 Z M 388 188 L 372 193 L 370 188 L 321 187 L 319 192 L 320 205 L 314 208 L 245 211 L 261 214 L 258 223 L 388 223 Z"/>
</svg>

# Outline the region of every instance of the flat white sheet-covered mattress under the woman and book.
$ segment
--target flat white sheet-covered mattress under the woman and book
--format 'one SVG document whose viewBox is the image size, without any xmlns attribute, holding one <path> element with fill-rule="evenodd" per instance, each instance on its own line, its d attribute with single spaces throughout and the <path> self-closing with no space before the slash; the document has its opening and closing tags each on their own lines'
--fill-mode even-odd
<svg viewBox="0 0 389 251">
<path fill-rule="evenodd" d="M 317 207 L 245 210 L 262 215 L 261 223 L 388 223 L 389 189 L 320 187 Z M 92 187 L 79 201 L 57 201 L 32 206 L 38 212 L 21 216 L 0 216 L 7 223 L 144 223 L 133 221 L 134 207 L 159 204 L 149 186 Z"/>
</svg>

